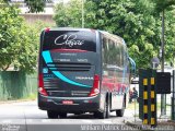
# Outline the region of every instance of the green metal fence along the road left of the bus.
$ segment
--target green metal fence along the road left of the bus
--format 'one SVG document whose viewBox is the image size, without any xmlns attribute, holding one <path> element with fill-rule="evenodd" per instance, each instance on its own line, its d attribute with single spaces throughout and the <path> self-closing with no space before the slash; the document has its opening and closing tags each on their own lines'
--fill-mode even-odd
<svg viewBox="0 0 175 131">
<path fill-rule="evenodd" d="M 0 71 L 0 100 L 25 98 L 36 94 L 37 75 L 19 71 Z"/>
</svg>

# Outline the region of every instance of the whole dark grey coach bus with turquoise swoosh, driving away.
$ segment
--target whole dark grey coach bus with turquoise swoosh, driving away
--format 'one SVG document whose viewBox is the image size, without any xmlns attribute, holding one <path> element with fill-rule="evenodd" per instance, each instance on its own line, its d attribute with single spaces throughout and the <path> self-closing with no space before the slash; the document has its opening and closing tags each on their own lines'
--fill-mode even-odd
<svg viewBox="0 0 175 131">
<path fill-rule="evenodd" d="M 90 28 L 46 28 L 40 34 L 38 107 L 50 119 L 93 112 L 122 117 L 129 92 L 127 46 Z"/>
</svg>

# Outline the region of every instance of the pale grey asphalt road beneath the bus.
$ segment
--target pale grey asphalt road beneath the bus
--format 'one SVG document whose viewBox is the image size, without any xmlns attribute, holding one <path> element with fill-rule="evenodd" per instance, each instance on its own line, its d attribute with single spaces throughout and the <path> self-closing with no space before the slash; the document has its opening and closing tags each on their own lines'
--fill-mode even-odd
<svg viewBox="0 0 175 131">
<path fill-rule="evenodd" d="M 125 126 L 128 119 L 133 119 L 133 112 L 128 109 L 121 118 L 112 112 L 109 119 L 95 119 L 92 114 L 68 114 L 66 119 L 48 119 L 46 111 L 38 109 L 37 102 L 0 105 L 0 131 L 117 130 L 116 126 Z M 115 127 L 107 127 L 109 124 Z"/>
</svg>

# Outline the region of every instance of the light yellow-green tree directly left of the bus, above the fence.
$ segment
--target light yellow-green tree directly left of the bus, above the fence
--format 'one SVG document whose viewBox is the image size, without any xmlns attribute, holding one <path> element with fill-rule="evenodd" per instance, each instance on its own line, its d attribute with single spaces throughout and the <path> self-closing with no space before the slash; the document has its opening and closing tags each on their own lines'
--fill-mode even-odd
<svg viewBox="0 0 175 131">
<path fill-rule="evenodd" d="M 36 71 L 37 57 L 39 50 L 39 35 L 45 27 L 52 26 L 50 24 L 37 21 L 32 26 L 24 24 L 19 34 L 22 39 L 20 53 L 16 60 L 13 62 L 14 67 L 26 73 L 33 73 Z"/>
</svg>

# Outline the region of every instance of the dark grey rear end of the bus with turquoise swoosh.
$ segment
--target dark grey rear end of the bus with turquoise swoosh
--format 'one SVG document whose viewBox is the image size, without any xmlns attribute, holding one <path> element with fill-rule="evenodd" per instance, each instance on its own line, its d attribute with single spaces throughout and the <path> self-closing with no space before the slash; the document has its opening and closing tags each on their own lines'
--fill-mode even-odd
<svg viewBox="0 0 175 131">
<path fill-rule="evenodd" d="M 38 106 L 49 114 L 100 107 L 101 57 L 92 29 L 47 28 L 40 35 Z"/>
</svg>

